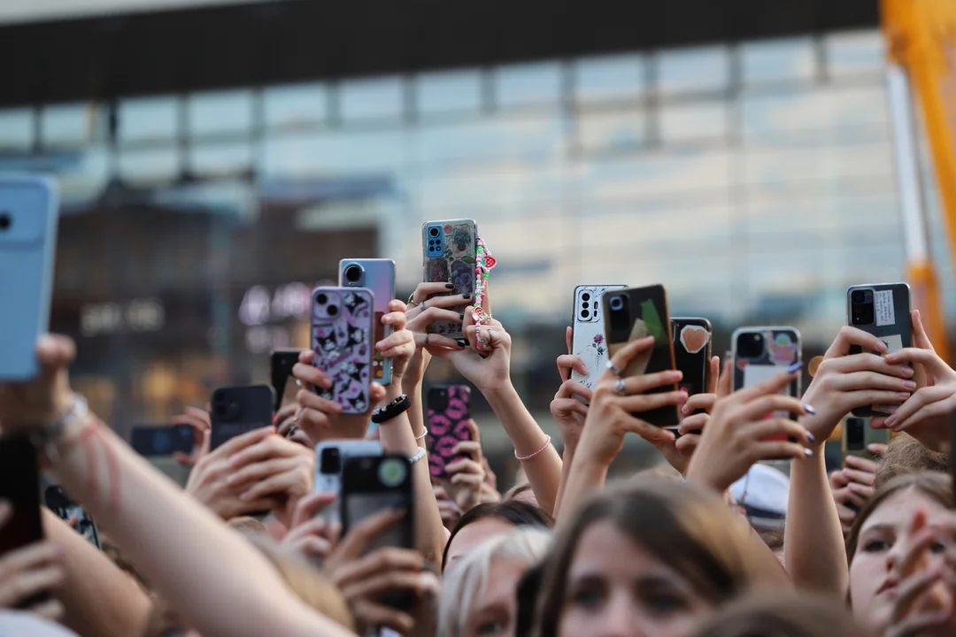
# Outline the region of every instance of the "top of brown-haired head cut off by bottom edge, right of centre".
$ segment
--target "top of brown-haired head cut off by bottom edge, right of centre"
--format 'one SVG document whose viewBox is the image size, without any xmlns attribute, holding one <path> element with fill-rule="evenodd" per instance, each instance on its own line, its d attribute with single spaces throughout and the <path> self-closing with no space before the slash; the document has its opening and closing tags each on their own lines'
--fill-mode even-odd
<svg viewBox="0 0 956 637">
<path fill-rule="evenodd" d="M 694 637 L 869 637 L 833 599 L 806 595 L 747 597 L 721 608 Z"/>
</svg>

